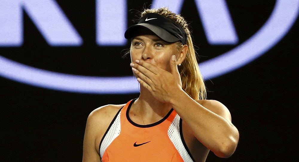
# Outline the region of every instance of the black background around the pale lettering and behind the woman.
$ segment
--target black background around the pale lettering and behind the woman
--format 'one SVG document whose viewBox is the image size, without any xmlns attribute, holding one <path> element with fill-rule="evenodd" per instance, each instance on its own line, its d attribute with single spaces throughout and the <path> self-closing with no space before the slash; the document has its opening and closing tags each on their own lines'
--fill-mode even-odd
<svg viewBox="0 0 299 162">
<path fill-rule="evenodd" d="M 51 47 L 24 12 L 24 44 L 0 48 L 12 60 L 51 71 L 94 76 L 132 75 L 126 46 L 97 46 L 95 2 L 57 1 L 83 38 L 80 47 Z M 128 1 L 128 10 L 141 10 L 150 1 Z M 239 37 L 238 46 L 269 18 L 275 1 L 227 1 Z M 134 24 L 132 10 L 128 25 Z M 236 46 L 208 44 L 193 1 L 181 11 L 191 26 L 201 57 L 213 58 Z M 206 80 L 208 99 L 222 102 L 238 128 L 238 147 L 230 158 L 208 161 L 298 161 L 297 75 L 298 21 L 272 49 L 251 63 Z M 114 64 L 112 64 L 114 63 Z M 109 69 L 109 70 L 108 70 Z M 0 161 L 82 161 L 89 113 L 103 105 L 123 104 L 138 94 L 97 95 L 33 87 L 0 77 Z"/>
</svg>

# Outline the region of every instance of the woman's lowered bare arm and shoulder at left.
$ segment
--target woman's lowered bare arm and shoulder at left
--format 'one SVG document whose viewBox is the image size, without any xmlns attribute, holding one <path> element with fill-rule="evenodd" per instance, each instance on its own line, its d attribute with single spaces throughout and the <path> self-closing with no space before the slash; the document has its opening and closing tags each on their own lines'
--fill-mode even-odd
<svg viewBox="0 0 299 162">
<path fill-rule="evenodd" d="M 93 110 L 86 122 L 82 162 L 100 162 L 99 144 L 112 119 L 123 105 L 106 105 Z"/>
</svg>

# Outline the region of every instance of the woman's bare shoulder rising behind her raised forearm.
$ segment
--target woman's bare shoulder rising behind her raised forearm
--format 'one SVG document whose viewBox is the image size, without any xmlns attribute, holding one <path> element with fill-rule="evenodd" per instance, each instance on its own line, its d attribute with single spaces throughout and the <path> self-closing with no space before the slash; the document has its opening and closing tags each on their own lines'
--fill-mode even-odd
<svg viewBox="0 0 299 162">
<path fill-rule="evenodd" d="M 228 108 L 221 102 L 216 100 L 198 100 L 197 102 L 203 107 L 212 111 L 213 113 L 216 113 L 217 115 L 222 116 L 226 120 L 231 121 L 231 113 L 229 112 Z"/>
</svg>

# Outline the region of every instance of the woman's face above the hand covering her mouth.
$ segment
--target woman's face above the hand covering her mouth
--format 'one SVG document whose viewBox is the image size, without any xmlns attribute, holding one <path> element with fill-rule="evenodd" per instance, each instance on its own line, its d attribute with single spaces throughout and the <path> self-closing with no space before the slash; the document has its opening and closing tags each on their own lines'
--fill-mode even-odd
<svg viewBox="0 0 299 162">
<path fill-rule="evenodd" d="M 140 35 L 132 39 L 131 60 L 145 60 L 161 69 L 170 72 L 170 58 L 178 56 L 176 43 L 168 43 L 156 35 Z"/>
</svg>

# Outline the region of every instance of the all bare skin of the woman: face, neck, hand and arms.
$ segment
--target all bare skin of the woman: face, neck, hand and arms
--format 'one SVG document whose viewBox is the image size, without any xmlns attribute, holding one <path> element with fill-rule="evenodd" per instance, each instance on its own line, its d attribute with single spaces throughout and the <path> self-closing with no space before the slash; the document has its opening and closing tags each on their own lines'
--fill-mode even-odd
<svg viewBox="0 0 299 162">
<path fill-rule="evenodd" d="M 182 90 L 177 65 L 185 59 L 187 49 L 184 45 L 178 50 L 176 43 L 167 43 L 155 35 L 132 39 L 130 66 L 141 86 L 129 117 L 137 124 L 152 124 L 173 108 L 183 119 L 183 136 L 196 161 L 205 161 L 209 150 L 228 158 L 237 147 L 238 130 L 222 103 L 195 101 Z M 100 140 L 123 105 L 106 105 L 91 112 L 83 141 L 83 162 L 100 161 Z"/>
</svg>

